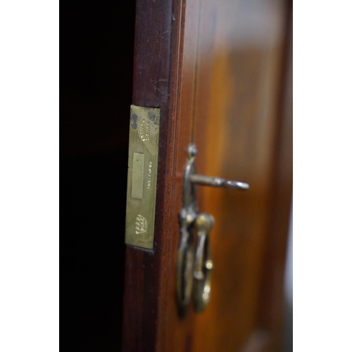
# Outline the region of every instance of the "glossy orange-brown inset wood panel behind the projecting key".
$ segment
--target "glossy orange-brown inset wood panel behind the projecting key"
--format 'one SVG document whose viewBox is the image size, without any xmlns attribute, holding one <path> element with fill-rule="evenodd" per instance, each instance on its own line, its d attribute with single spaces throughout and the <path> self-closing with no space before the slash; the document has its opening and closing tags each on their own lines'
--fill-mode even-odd
<svg viewBox="0 0 352 352">
<path fill-rule="evenodd" d="M 277 165 L 286 5 L 224 1 L 217 6 L 221 35 L 213 58 L 208 123 L 203 121 L 204 113 L 197 119 L 196 144 L 206 141 L 206 149 L 199 148 L 198 169 L 249 182 L 251 189 L 201 190 L 202 209 L 215 216 L 214 269 L 210 304 L 196 320 L 194 351 L 262 351 L 272 339 L 269 325 L 262 325 L 259 315 L 261 305 L 269 303 L 261 296 L 261 281 L 268 266 L 264 256 Z M 285 196 L 290 199 L 291 193 Z M 289 214 L 289 209 L 283 211 Z M 277 236 L 285 239 L 287 229 Z M 283 247 L 276 250 L 284 255 Z M 281 275 L 283 265 L 284 261 L 277 261 L 275 268 Z M 278 283 L 268 287 L 282 296 L 282 286 L 273 284 Z"/>
</svg>

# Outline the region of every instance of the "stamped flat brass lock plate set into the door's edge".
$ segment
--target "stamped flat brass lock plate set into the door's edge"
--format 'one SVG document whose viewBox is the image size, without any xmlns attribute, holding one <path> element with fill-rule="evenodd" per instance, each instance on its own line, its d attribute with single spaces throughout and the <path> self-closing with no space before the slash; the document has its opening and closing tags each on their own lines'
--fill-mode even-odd
<svg viewBox="0 0 352 352">
<path fill-rule="evenodd" d="M 125 243 L 153 249 L 160 109 L 131 106 Z"/>
</svg>

